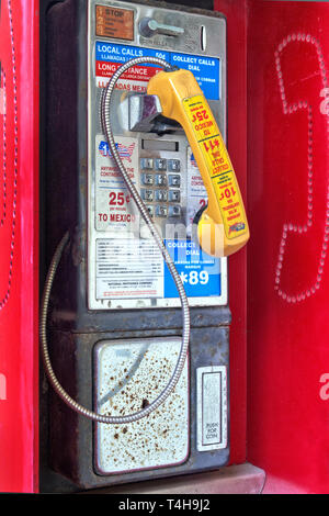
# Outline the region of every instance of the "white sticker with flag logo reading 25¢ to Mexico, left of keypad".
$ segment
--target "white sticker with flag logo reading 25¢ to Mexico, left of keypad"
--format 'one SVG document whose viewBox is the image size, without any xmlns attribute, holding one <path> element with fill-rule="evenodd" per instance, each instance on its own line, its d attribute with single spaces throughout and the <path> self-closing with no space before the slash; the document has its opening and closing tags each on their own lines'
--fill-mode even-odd
<svg viewBox="0 0 329 516">
<path fill-rule="evenodd" d="M 139 212 L 117 169 L 103 135 L 95 141 L 95 228 L 113 233 L 138 233 Z M 116 148 L 124 166 L 138 188 L 138 143 L 136 138 L 117 138 Z"/>
</svg>

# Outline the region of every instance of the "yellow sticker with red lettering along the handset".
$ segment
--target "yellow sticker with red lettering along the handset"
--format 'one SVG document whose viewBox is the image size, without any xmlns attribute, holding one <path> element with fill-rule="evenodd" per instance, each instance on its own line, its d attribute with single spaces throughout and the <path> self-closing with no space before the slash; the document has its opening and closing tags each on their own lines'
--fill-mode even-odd
<svg viewBox="0 0 329 516">
<path fill-rule="evenodd" d="M 203 96 L 184 99 L 183 106 L 215 191 L 225 234 L 227 238 L 240 236 L 247 232 L 248 225 L 236 175 L 218 125 Z M 196 156 L 195 159 L 197 161 Z M 197 165 L 203 176 L 203 164 Z"/>
</svg>

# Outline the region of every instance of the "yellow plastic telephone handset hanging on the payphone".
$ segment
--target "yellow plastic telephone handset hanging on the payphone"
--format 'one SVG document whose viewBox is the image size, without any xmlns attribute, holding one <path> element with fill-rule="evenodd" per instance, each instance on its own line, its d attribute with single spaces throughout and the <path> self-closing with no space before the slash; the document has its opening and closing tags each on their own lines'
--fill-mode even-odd
<svg viewBox="0 0 329 516">
<path fill-rule="evenodd" d="M 160 71 L 147 93 L 158 96 L 163 116 L 182 125 L 206 188 L 208 205 L 197 225 L 202 249 L 216 257 L 236 253 L 249 238 L 243 202 L 218 125 L 193 74 Z"/>
</svg>

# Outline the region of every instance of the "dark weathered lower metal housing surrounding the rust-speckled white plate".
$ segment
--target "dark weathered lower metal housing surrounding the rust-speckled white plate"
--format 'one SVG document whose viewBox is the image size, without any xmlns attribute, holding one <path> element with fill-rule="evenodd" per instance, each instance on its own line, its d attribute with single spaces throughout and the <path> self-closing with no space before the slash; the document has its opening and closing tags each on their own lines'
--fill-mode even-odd
<svg viewBox="0 0 329 516">
<path fill-rule="evenodd" d="M 218 327 L 194 327 L 197 310 L 192 311 L 191 347 L 188 359 L 190 374 L 190 437 L 189 455 L 181 464 L 163 465 L 158 469 L 143 471 L 127 471 L 125 473 L 111 473 L 100 475 L 94 470 L 94 440 L 93 423 L 86 417 L 78 417 L 63 401 L 49 391 L 49 416 L 50 416 L 50 467 L 77 484 L 72 487 L 68 482 L 64 482 L 58 475 L 49 471 L 44 475 L 43 490 L 55 492 L 66 492 L 81 489 L 92 489 L 114 484 L 141 481 L 145 479 L 157 479 L 183 473 L 201 472 L 224 465 L 229 457 L 229 440 L 227 447 L 222 450 L 198 451 L 196 448 L 196 373 L 197 368 L 205 366 L 228 367 L 228 326 Z M 137 334 L 137 335 L 136 335 Z M 152 338 L 179 338 L 175 329 L 168 327 L 152 332 Z M 55 371 L 64 388 L 72 395 L 79 393 L 78 400 L 84 406 L 95 408 L 93 403 L 93 350 L 98 343 L 102 340 L 114 340 L 124 338 L 131 340 L 138 338 L 146 340 L 150 337 L 147 327 L 144 330 L 125 332 L 118 335 L 115 332 L 71 334 L 63 332 L 52 332 L 49 344 L 54 361 Z M 54 354 L 54 351 L 56 352 Z M 127 371 L 128 372 L 128 371 Z M 163 379 L 164 380 L 164 379 Z M 125 390 L 125 388 L 123 388 Z M 174 395 L 174 394 L 173 394 Z M 229 399 L 229 385 L 227 389 Z M 143 400 L 148 400 L 144 397 Z M 141 403 L 143 403 L 141 400 Z M 170 399 L 168 399 L 170 403 Z M 140 400 L 139 400 L 140 403 Z M 229 436 L 229 412 L 227 414 L 227 433 Z M 146 423 L 146 422 L 145 422 Z M 122 427 L 121 431 L 123 430 Z M 118 449 L 120 455 L 123 451 Z"/>
</svg>

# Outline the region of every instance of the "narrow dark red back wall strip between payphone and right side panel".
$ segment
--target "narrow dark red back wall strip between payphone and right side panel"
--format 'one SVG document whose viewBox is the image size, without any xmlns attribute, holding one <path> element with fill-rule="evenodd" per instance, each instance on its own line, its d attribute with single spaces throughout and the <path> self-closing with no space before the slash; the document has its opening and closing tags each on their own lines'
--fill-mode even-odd
<svg viewBox="0 0 329 516">
<path fill-rule="evenodd" d="M 216 0 L 227 20 L 227 147 L 247 201 L 247 9 L 245 0 Z M 248 248 L 248 244 L 247 244 Z M 230 462 L 246 461 L 247 248 L 228 259 L 230 330 Z"/>
</svg>

